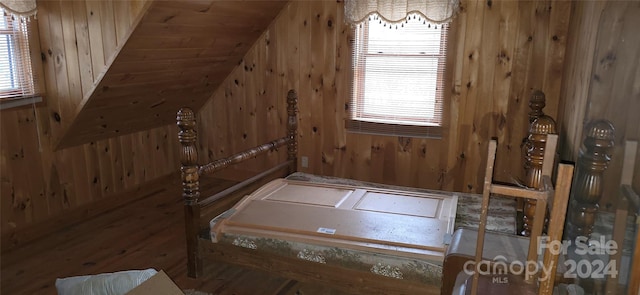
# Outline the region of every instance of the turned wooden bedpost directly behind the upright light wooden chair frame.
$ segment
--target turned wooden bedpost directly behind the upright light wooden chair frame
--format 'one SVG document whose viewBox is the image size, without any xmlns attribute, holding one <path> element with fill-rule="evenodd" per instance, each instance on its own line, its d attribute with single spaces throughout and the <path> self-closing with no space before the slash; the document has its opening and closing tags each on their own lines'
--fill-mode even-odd
<svg viewBox="0 0 640 295">
<path fill-rule="evenodd" d="M 529 188 L 542 189 L 542 176 L 544 173 L 550 172 L 543 171 L 543 164 L 545 160 L 545 148 L 547 144 L 547 138 L 549 134 L 557 134 L 556 122 L 553 118 L 547 115 L 541 115 L 535 119 L 529 127 L 529 137 L 527 138 L 527 151 L 525 155 L 525 163 L 527 163 L 525 174 L 525 185 Z M 555 154 L 555 144 L 550 147 L 554 149 L 552 153 Z M 547 169 L 550 167 L 547 167 Z M 536 213 L 536 200 L 527 199 L 524 203 L 523 210 L 523 228 L 520 232 L 523 236 L 530 236 L 531 229 L 533 228 L 533 217 Z"/>
</svg>

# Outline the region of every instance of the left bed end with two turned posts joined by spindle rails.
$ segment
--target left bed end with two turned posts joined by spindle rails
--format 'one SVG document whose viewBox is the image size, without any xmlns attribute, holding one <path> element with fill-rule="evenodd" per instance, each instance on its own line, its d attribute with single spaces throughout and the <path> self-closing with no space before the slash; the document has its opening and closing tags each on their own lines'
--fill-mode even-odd
<svg viewBox="0 0 640 295">
<path fill-rule="evenodd" d="M 190 277 L 198 277 L 202 274 L 202 258 L 199 253 L 198 245 L 200 209 L 211 205 L 215 201 L 239 191 L 246 186 L 256 183 L 275 171 L 284 169 L 285 167 L 288 168 L 289 173 L 296 170 L 296 154 L 298 150 L 298 143 L 296 141 L 298 127 L 297 102 L 297 93 L 295 90 L 289 90 L 287 94 L 288 121 L 286 136 L 204 165 L 198 165 L 197 163 L 198 137 L 195 130 L 195 114 L 193 110 L 189 108 L 182 108 L 178 111 L 176 120 L 179 128 L 178 140 L 182 145 L 180 152 L 180 171 L 182 175 L 182 197 L 184 198 L 185 234 L 187 239 L 187 273 Z M 286 162 L 242 181 L 220 193 L 210 196 L 204 200 L 200 200 L 200 176 L 211 174 L 233 164 L 241 163 L 247 159 L 254 158 L 269 150 L 273 150 L 284 145 L 287 145 Z"/>
</svg>

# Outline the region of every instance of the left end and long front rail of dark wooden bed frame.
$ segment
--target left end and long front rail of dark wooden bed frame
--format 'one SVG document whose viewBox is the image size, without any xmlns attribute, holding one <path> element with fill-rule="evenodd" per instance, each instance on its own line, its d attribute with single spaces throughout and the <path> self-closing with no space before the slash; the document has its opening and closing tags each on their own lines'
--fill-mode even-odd
<svg viewBox="0 0 640 295">
<path fill-rule="evenodd" d="M 204 214 L 201 213 L 207 206 L 214 207 L 211 206 L 214 203 L 218 207 L 221 206 L 220 204 L 228 205 L 229 207 L 233 206 L 235 200 L 239 200 L 244 194 L 249 194 L 256 189 L 261 184 L 259 183 L 260 181 L 280 177 L 280 175 L 275 175 L 276 172 L 286 169 L 287 173 L 291 174 L 296 171 L 297 94 L 295 91 L 290 90 L 288 92 L 287 103 L 288 131 L 285 137 L 205 165 L 198 165 L 197 163 L 198 151 L 194 112 L 188 108 L 183 108 L 178 112 L 178 138 L 182 145 L 180 160 L 182 165 L 182 195 L 185 201 L 188 275 L 194 278 L 201 276 L 203 274 L 203 260 L 206 258 L 208 263 L 211 261 L 229 263 L 249 269 L 267 271 L 274 275 L 300 282 L 329 284 L 336 289 L 354 294 L 440 294 L 439 286 L 432 286 L 424 282 L 400 280 L 394 277 L 381 276 L 371 271 L 339 265 L 301 263 L 301 260 L 296 257 L 255 251 L 234 246 L 231 243 L 205 242 L 204 237 L 201 236 L 205 227 L 202 219 L 208 217 L 205 218 Z M 211 197 L 203 200 L 199 199 L 200 176 L 213 173 L 284 145 L 287 145 L 287 161 Z M 247 188 L 249 186 L 252 186 L 251 189 Z M 224 208 L 224 210 L 226 209 L 229 208 Z M 207 238 L 209 238 L 209 228 L 207 228 L 206 234 Z"/>
</svg>

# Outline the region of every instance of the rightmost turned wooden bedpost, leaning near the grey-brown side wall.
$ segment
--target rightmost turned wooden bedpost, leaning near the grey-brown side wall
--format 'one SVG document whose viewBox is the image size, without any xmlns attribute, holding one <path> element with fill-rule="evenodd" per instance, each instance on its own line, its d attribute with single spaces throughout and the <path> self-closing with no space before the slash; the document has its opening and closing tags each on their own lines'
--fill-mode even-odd
<svg viewBox="0 0 640 295">
<path fill-rule="evenodd" d="M 590 237 L 602 197 L 603 173 L 611 160 L 614 146 L 613 124 L 607 120 L 591 121 L 576 163 L 576 177 L 571 189 L 567 237 L 571 240 Z"/>
</svg>

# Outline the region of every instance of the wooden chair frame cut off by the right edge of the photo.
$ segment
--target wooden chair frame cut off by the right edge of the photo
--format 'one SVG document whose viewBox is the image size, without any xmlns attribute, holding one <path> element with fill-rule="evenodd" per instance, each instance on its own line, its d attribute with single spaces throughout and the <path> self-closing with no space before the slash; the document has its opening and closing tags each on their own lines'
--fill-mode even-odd
<svg viewBox="0 0 640 295">
<path fill-rule="evenodd" d="M 637 149 L 638 142 L 627 141 L 625 143 L 622 175 L 620 177 L 620 198 L 613 225 L 613 240 L 618 245 L 618 251 L 610 258 L 616 263 L 618 275 L 628 275 L 626 293 L 628 295 L 640 294 L 640 196 L 631 187 Z M 622 248 L 625 232 L 627 231 L 628 216 L 635 217 L 635 227 L 632 229 L 633 255 L 631 256 L 630 271 L 621 273 Z M 607 278 L 606 294 L 619 294 L 619 291 L 618 277 L 609 276 Z"/>
</svg>

